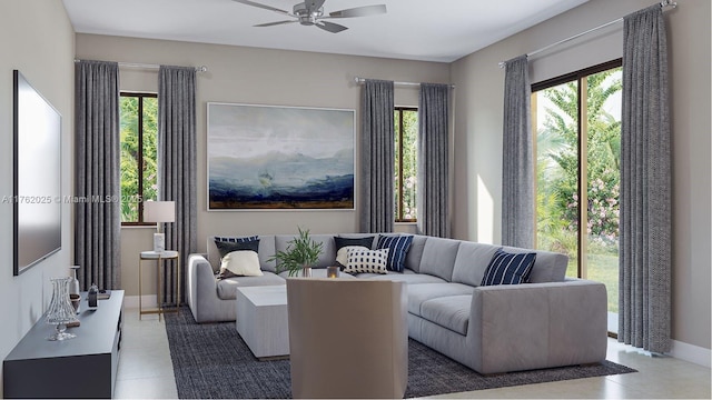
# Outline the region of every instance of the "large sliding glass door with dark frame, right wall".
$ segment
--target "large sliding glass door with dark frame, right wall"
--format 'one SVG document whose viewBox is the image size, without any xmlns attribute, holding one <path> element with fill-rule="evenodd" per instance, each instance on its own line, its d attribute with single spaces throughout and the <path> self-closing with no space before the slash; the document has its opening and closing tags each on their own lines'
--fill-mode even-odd
<svg viewBox="0 0 712 400">
<path fill-rule="evenodd" d="M 617 312 L 621 60 L 532 86 L 537 248 L 606 284 Z M 584 207 L 582 207 L 584 206 Z"/>
</svg>

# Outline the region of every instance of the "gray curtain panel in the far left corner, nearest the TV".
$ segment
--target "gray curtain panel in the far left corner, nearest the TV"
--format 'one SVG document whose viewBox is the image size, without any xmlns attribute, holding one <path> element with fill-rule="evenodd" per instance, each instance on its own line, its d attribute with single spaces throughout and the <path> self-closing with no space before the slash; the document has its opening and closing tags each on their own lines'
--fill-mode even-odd
<svg viewBox="0 0 712 400">
<path fill-rule="evenodd" d="M 75 264 L 81 290 L 121 288 L 119 66 L 75 64 Z M 95 201 L 91 199 L 109 199 Z"/>
</svg>

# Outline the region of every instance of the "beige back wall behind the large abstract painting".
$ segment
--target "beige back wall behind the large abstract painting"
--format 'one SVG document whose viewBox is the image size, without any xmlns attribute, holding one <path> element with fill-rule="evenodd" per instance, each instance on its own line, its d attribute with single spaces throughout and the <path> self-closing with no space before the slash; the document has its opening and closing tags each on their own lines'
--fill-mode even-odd
<svg viewBox="0 0 712 400">
<path fill-rule="evenodd" d="M 77 34 L 77 57 L 174 66 L 207 66 L 198 73 L 198 251 L 208 234 L 354 232 L 356 211 L 207 211 L 207 102 L 358 109 L 355 77 L 411 82 L 449 82 L 449 66 L 367 57 L 333 56 L 230 46 Z M 157 91 L 157 71 L 121 69 L 121 89 Z M 417 106 L 416 88 L 396 88 L 397 106 Z M 358 138 L 357 144 L 358 144 Z M 358 154 L 357 154 L 358 159 Z M 358 164 L 356 166 L 358 184 Z M 357 188 L 358 190 L 358 188 Z M 358 209 L 358 199 L 356 208 Z M 138 294 L 138 252 L 151 247 L 150 229 L 121 231 L 122 286 Z M 155 288 L 151 277 L 144 288 Z M 146 281 L 144 282 L 146 284 Z M 145 292 L 151 292 L 145 290 Z M 155 292 L 155 290 L 152 290 Z"/>
</svg>

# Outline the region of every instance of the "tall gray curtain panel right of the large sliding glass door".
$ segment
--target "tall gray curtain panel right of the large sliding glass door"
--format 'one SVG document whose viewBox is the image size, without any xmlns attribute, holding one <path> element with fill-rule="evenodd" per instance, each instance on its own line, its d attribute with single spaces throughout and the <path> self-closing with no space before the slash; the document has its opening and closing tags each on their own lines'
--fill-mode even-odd
<svg viewBox="0 0 712 400">
<path fill-rule="evenodd" d="M 623 20 L 619 341 L 671 348 L 671 153 L 662 8 Z"/>
</svg>

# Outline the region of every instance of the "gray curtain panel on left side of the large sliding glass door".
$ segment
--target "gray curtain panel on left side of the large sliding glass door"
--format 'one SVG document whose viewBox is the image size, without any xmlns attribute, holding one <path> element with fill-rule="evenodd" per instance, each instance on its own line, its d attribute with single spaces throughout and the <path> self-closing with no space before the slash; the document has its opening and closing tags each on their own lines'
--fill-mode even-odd
<svg viewBox="0 0 712 400">
<path fill-rule="evenodd" d="M 502 244 L 534 247 L 534 147 L 526 56 L 506 61 L 502 151 Z"/>
</svg>

